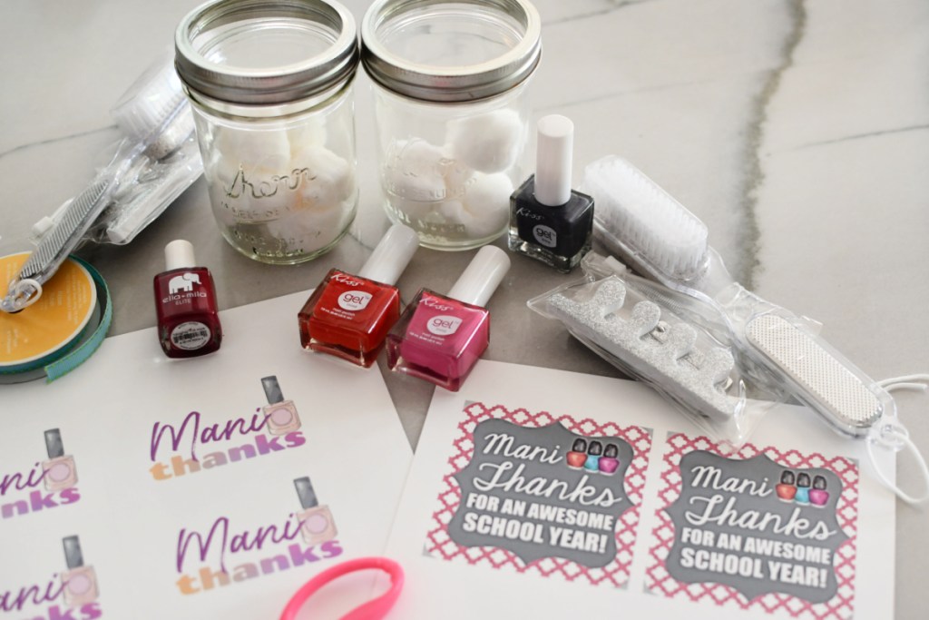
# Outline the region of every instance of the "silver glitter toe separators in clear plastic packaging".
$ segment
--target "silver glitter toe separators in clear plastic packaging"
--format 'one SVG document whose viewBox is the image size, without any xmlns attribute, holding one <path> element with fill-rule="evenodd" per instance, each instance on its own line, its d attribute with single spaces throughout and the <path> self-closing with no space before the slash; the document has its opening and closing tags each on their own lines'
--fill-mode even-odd
<svg viewBox="0 0 929 620">
<path fill-rule="evenodd" d="M 712 307 L 639 278 L 612 257 L 588 253 L 582 269 L 582 281 L 530 299 L 530 309 L 656 389 L 724 449 L 738 450 L 786 400 L 739 355 Z"/>
</svg>

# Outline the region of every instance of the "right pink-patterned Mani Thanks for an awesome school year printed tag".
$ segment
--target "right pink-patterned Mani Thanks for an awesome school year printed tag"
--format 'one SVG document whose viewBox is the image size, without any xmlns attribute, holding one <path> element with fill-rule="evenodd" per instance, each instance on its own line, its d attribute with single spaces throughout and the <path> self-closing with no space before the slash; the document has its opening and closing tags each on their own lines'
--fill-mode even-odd
<svg viewBox="0 0 929 620">
<path fill-rule="evenodd" d="M 858 468 L 844 456 L 671 433 L 646 587 L 669 598 L 850 618 Z"/>
</svg>

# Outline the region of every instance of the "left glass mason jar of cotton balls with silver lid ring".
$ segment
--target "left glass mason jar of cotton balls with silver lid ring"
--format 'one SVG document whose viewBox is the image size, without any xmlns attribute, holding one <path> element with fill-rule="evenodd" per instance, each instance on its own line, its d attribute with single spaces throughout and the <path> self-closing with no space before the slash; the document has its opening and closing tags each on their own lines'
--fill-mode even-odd
<svg viewBox="0 0 929 620">
<path fill-rule="evenodd" d="M 358 207 L 355 20 L 331 0 L 216 0 L 177 28 L 213 214 L 247 257 L 294 264 Z"/>
</svg>

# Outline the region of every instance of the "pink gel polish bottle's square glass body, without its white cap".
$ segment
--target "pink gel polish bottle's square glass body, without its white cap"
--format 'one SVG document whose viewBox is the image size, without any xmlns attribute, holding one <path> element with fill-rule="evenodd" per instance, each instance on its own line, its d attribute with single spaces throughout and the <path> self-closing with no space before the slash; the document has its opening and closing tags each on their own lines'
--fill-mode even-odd
<svg viewBox="0 0 929 620">
<path fill-rule="evenodd" d="M 420 291 L 387 336 L 387 363 L 457 391 L 490 342 L 490 313 Z"/>
</svg>

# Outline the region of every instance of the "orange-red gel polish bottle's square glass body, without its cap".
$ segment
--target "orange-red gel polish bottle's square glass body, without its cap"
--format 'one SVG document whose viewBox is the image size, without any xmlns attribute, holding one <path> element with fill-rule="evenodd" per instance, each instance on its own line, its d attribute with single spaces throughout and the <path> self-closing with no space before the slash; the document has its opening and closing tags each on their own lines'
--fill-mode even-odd
<svg viewBox="0 0 929 620">
<path fill-rule="evenodd" d="M 298 314 L 300 344 L 368 367 L 399 313 L 397 287 L 331 270 Z"/>
</svg>

